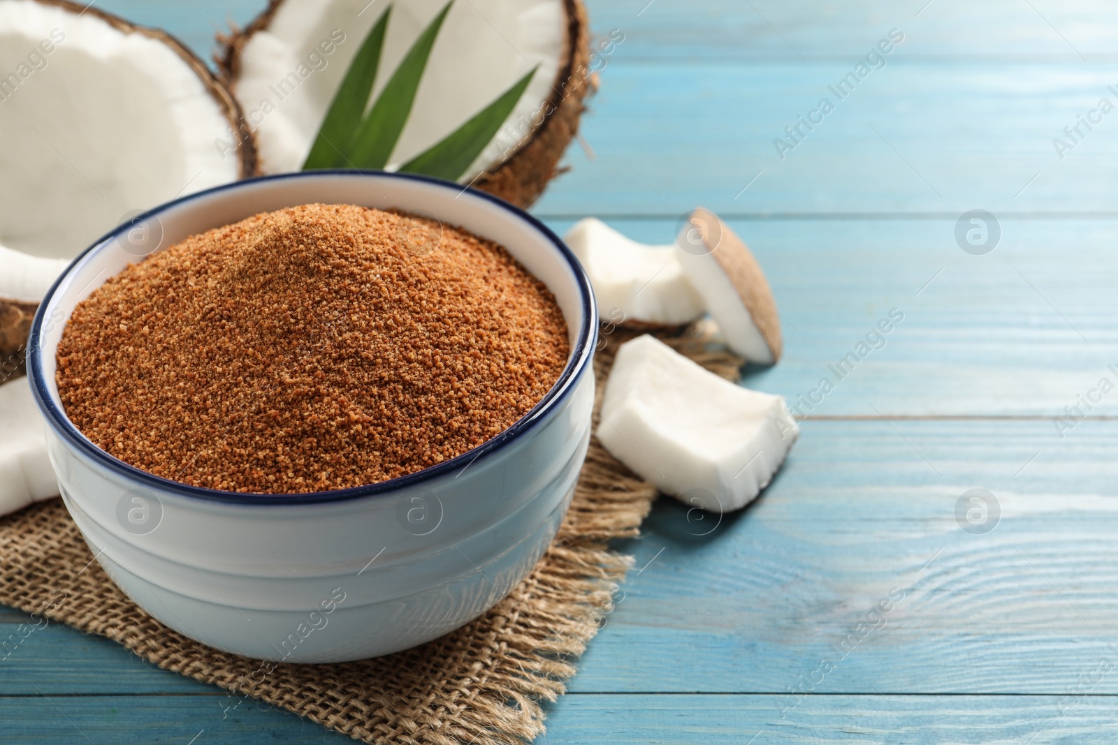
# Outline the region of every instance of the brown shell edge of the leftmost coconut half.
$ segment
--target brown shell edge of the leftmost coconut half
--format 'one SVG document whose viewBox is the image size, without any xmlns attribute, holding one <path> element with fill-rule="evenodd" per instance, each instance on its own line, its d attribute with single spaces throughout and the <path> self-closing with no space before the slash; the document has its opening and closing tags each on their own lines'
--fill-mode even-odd
<svg viewBox="0 0 1118 745">
<path fill-rule="evenodd" d="M 6 0 L 0 0 L 0 2 Z M 195 71 L 233 127 L 234 136 L 237 140 L 237 159 L 240 178 L 244 179 L 256 173 L 256 142 L 253 139 L 252 132 L 241 125 L 245 117 L 240 111 L 240 104 L 233 97 L 233 94 L 229 93 L 225 84 L 210 71 L 206 63 L 199 59 L 181 41 L 159 29 L 136 26 L 119 16 L 113 16 L 88 4 L 78 4 L 69 2 L 69 0 L 35 1 L 44 6 L 61 8 L 75 16 L 84 15 L 100 18 L 119 31 L 124 34 L 140 34 L 170 47 Z M 20 360 L 22 359 L 21 351 L 27 343 L 31 318 L 37 307 L 38 303 L 22 303 L 0 297 L 0 361 L 16 356 L 19 356 Z"/>
</svg>

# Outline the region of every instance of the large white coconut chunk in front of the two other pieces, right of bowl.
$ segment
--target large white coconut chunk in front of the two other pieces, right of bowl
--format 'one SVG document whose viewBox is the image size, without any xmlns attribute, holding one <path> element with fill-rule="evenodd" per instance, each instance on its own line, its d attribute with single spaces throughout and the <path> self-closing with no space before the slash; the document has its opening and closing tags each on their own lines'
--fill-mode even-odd
<svg viewBox="0 0 1118 745">
<path fill-rule="evenodd" d="M 597 436 L 661 491 L 730 512 L 768 486 L 799 427 L 783 397 L 736 385 L 644 335 L 617 351 Z"/>
</svg>

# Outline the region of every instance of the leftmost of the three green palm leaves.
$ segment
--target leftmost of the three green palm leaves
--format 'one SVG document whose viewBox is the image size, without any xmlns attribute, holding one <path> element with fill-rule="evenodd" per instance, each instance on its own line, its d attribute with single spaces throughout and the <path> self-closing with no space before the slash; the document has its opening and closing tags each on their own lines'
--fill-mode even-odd
<svg viewBox="0 0 1118 745">
<path fill-rule="evenodd" d="M 388 6 L 350 63 L 345 77 L 342 78 L 342 84 L 330 103 L 326 116 L 322 120 L 319 136 L 303 163 L 304 171 L 345 165 L 345 147 L 361 123 L 372 84 L 377 79 L 380 50 L 385 46 L 385 29 L 388 28 L 388 17 L 391 12 L 392 7 Z"/>
</svg>

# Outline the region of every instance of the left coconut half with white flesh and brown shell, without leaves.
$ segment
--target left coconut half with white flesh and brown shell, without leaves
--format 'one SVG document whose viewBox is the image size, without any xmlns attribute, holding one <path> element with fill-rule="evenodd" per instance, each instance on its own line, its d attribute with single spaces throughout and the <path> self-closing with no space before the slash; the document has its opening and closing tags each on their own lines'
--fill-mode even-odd
<svg viewBox="0 0 1118 745">
<path fill-rule="evenodd" d="M 228 89 L 162 31 L 0 0 L 0 353 L 72 258 L 125 217 L 255 170 Z"/>
</svg>

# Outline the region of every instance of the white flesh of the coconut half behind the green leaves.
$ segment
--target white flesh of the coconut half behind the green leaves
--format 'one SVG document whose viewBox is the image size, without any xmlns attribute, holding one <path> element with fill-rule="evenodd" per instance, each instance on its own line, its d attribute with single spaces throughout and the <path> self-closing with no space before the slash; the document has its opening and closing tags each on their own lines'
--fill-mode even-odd
<svg viewBox="0 0 1118 745">
<path fill-rule="evenodd" d="M 373 98 L 446 0 L 395 0 Z M 284 0 L 241 47 L 234 94 L 266 173 L 297 171 L 385 0 Z M 459 0 L 439 29 L 388 170 L 427 150 L 539 69 L 462 181 L 503 162 L 538 125 L 567 52 L 562 0 Z M 342 39 L 339 41 L 339 39 Z M 326 50 L 330 50 L 326 54 Z M 344 143 L 337 143 L 343 147 Z"/>
</svg>

